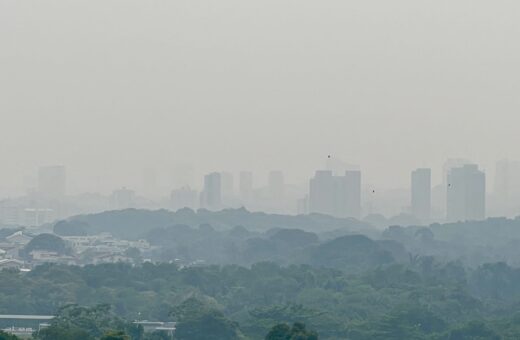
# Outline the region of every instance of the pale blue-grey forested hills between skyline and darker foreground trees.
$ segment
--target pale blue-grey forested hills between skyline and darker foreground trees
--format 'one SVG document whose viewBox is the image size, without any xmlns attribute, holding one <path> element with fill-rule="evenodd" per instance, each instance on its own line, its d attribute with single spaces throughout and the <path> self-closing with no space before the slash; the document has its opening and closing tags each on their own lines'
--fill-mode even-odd
<svg viewBox="0 0 520 340">
<path fill-rule="evenodd" d="M 315 247 L 344 236 L 363 235 L 374 241 L 393 241 L 378 246 L 393 249 L 394 259 L 396 253 L 402 253 L 398 249 L 401 247 L 410 256 L 435 256 L 444 262 L 461 261 L 471 267 L 497 261 L 520 266 L 518 218 L 490 218 L 428 227 L 390 226 L 377 230 L 354 219 L 318 214 L 270 215 L 245 209 L 218 212 L 129 209 L 72 217 L 59 222 L 54 232 L 63 236 L 109 232 L 121 239 L 146 239 L 161 247 L 153 258 L 163 261 L 184 258 L 215 264 L 249 265 L 265 260 L 281 264 L 314 263 L 319 257 L 311 256 Z M 363 244 L 362 239 L 343 241 L 350 242 L 349 249 L 354 249 L 357 241 Z M 324 254 L 327 251 L 329 249 Z"/>
</svg>

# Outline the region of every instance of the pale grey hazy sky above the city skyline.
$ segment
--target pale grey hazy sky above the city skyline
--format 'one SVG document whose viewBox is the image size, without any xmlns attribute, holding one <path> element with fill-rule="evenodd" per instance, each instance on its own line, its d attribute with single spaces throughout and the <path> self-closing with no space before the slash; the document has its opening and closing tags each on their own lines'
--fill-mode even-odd
<svg viewBox="0 0 520 340">
<path fill-rule="evenodd" d="M 520 159 L 517 0 L 0 0 L 0 186 Z M 161 170 L 162 169 L 162 170 Z"/>
</svg>

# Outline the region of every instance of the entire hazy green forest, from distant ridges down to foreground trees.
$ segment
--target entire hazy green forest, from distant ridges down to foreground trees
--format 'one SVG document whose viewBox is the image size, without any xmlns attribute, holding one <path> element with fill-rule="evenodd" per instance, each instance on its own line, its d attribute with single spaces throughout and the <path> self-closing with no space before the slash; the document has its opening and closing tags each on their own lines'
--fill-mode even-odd
<svg viewBox="0 0 520 340">
<path fill-rule="evenodd" d="M 4 270 L 0 313 L 57 315 L 41 339 L 161 339 L 132 328 L 139 319 L 176 322 L 175 338 L 187 340 L 520 338 L 520 220 L 382 231 L 357 223 L 244 210 L 73 218 L 56 233 L 145 238 L 151 261 Z M 27 245 L 63 246 L 48 234 Z"/>
</svg>

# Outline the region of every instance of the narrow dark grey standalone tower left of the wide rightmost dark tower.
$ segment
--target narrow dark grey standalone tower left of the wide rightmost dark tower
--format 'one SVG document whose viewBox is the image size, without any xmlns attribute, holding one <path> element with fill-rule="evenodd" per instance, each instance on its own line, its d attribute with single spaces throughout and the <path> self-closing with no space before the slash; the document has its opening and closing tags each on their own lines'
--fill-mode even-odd
<svg viewBox="0 0 520 340">
<path fill-rule="evenodd" d="M 426 223 L 431 214 L 431 177 L 431 169 L 417 169 L 412 172 L 412 215 Z"/>
</svg>

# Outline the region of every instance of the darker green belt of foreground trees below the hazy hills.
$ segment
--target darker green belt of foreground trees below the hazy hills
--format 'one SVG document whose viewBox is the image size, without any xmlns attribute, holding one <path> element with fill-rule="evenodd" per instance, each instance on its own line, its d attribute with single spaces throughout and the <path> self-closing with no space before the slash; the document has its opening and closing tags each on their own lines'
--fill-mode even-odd
<svg viewBox="0 0 520 340">
<path fill-rule="evenodd" d="M 493 280 L 503 293 L 492 288 Z M 70 303 L 91 307 L 60 309 Z M 99 339 L 114 331 L 139 339 L 141 330 L 123 318 L 177 321 L 179 339 L 260 339 L 280 323 L 304 323 L 322 339 L 456 339 L 476 332 L 515 339 L 519 305 L 516 269 L 465 270 L 429 257 L 358 275 L 275 263 L 45 265 L 27 274 L 0 272 L 0 313 L 57 313 L 39 339 Z"/>
</svg>

